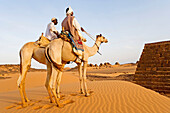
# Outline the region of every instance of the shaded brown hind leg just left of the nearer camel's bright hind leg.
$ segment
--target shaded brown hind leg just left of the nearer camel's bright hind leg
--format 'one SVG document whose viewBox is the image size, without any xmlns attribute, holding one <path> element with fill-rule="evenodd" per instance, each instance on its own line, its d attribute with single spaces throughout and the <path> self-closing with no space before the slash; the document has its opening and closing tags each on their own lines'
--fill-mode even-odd
<svg viewBox="0 0 170 113">
<path fill-rule="evenodd" d="M 51 77 L 51 71 L 52 71 L 51 64 L 49 62 L 47 62 L 47 78 L 46 78 L 45 87 L 46 87 L 47 92 L 48 92 L 49 97 L 50 97 L 50 103 L 54 103 L 54 101 L 52 99 L 52 94 L 51 94 L 50 86 L 49 86 L 50 77 Z"/>
</svg>

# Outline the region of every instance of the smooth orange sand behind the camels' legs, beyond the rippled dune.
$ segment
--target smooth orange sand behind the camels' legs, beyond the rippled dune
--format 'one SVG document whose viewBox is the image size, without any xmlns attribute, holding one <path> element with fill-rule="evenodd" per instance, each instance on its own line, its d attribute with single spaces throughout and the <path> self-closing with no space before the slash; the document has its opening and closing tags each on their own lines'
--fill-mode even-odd
<svg viewBox="0 0 170 113">
<path fill-rule="evenodd" d="M 37 86 L 44 86 L 46 80 L 46 72 L 28 72 L 26 76 L 26 89 L 34 88 Z M 19 73 L 9 74 L 9 79 L 0 80 L 0 92 L 7 92 L 17 90 L 17 79 L 19 77 Z M 79 82 L 78 74 L 67 72 L 62 76 L 61 84 L 70 83 L 70 82 Z M 5 86 L 5 87 L 3 87 Z"/>
</svg>

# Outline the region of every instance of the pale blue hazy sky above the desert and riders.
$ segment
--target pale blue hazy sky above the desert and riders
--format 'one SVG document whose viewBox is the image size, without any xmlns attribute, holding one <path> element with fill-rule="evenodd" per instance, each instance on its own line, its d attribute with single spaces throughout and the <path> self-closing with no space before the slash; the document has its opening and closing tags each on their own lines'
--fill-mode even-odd
<svg viewBox="0 0 170 113">
<path fill-rule="evenodd" d="M 170 0 L 0 0 L 0 64 L 19 64 L 19 51 L 27 42 L 45 33 L 51 18 L 61 31 L 65 10 L 71 6 L 80 25 L 94 37 L 108 39 L 102 55 L 89 63 L 135 63 L 144 44 L 170 40 Z M 86 34 L 88 46 L 94 41 Z M 67 65 L 69 67 L 75 64 Z M 46 66 L 32 60 L 32 67 Z"/>
</svg>

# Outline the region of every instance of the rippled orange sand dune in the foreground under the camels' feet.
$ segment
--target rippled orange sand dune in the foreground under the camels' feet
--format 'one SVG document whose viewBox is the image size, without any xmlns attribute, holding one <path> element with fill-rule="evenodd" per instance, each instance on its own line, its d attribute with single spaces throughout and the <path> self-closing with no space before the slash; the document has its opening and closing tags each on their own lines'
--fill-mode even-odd
<svg viewBox="0 0 170 113">
<path fill-rule="evenodd" d="M 63 108 L 50 104 L 45 87 L 27 89 L 29 106 L 20 109 L 17 90 L 0 93 L 0 112 L 43 113 L 169 113 L 170 99 L 152 90 L 125 81 L 88 82 L 90 97 L 79 94 L 79 83 L 63 83 Z M 72 101 L 69 101 L 72 100 Z M 10 108 L 11 107 L 11 108 Z M 6 109 L 9 108 L 9 109 Z"/>
</svg>

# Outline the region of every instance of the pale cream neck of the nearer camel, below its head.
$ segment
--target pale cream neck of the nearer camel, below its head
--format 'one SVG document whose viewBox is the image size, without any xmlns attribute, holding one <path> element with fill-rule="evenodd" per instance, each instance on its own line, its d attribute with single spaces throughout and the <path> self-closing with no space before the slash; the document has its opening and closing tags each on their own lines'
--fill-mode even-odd
<svg viewBox="0 0 170 113">
<path fill-rule="evenodd" d="M 97 51 L 99 50 L 101 42 L 100 41 L 96 41 L 93 45 L 93 47 L 89 47 L 88 51 L 89 51 L 89 57 L 95 55 L 97 53 Z"/>
</svg>

